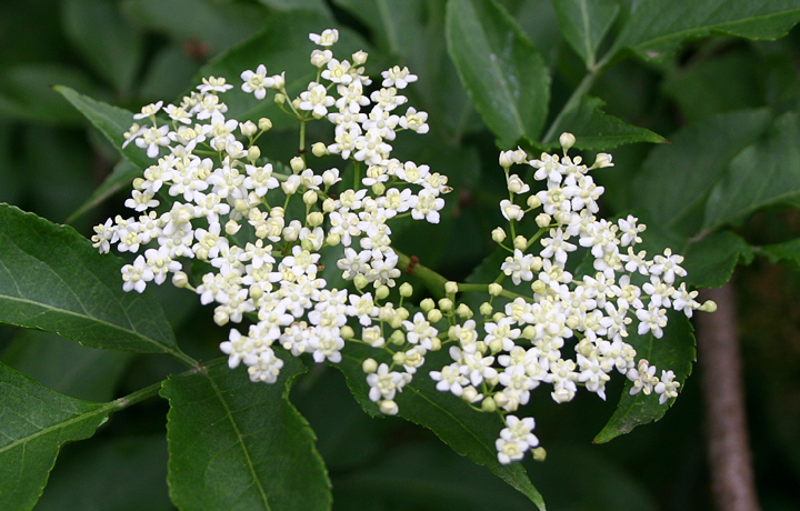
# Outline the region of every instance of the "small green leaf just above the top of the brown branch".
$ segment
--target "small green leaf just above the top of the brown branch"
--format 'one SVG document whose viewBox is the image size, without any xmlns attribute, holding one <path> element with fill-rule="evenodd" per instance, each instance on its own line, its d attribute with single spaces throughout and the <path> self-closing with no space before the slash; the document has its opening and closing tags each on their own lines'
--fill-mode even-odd
<svg viewBox="0 0 800 511">
<path fill-rule="evenodd" d="M 752 260 L 752 248 L 732 231 L 723 230 L 690 243 L 683 251 L 683 269 L 688 284 L 696 288 L 719 288 L 731 279 L 733 269 Z"/>
</svg>

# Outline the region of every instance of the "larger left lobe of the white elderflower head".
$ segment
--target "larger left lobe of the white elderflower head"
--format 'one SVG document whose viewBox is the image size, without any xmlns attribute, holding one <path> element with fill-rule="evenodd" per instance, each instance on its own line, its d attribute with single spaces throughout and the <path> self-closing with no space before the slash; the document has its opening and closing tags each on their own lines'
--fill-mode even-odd
<svg viewBox="0 0 800 511">
<path fill-rule="evenodd" d="M 389 69 L 382 87 L 368 93 L 366 52 L 351 61 L 334 59 L 336 30 L 310 39 L 321 47 L 311 53 L 317 80 L 292 101 L 284 74 L 269 76 L 264 66 L 242 72 L 241 89 L 258 100 L 273 90 L 274 101 L 300 123 L 332 123 L 332 143 L 317 142 L 312 153 L 338 154 L 349 167 L 311 168 L 306 151 L 288 166 L 262 158 L 256 141 L 271 121 L 227 118 L 222 94 L 233 86 L 209 77 L 179 106 L 162 108 L 159 101 L 133 116 L 143 123 L 130 128 L 123 147 L 136 143 L 157 161 L 126 201 L 138 214 L 109 219 L 92 238 L 102 252 L 116 244 L 138 254 L 122 268 L 126 291 L 142 292 L 171 274 L 176 285 L 214 305 L 218 324 L 247 322 L 243 331 L 232 328 L 220 349 L 231 368 L 243 362 L 252 381 L 277 380 L 283 362 L 276 344 L 317 362 L 339 362 L 346 340 L 379 347 L 384 323 L 400 328 L 408 311 L 386 302 L 400 275 L 389 221 L 438 223 L 440 196 L 450 191 L 447 178 L 428 166 L 391 156 L 398 132 L 428 131 L 427 113 L 412 107 L 401 112 L 402 89 L 417 77 Z M 162 113 L 169 120 L 157 118 Z M 302 137 L 303 129 L 300 148 Z M 193 274 L 201 269 L 193 284 L 182 271 L 189 261 Z M 329 288 L 322 261 L 354 281 L 357 292 Z M 366 292 L 369 284 L 373 291 Z M 348 325 L 351 318 L 361 328 L 358 335 Z M 402 374 L 383 365 L 369 378 L 377 389 L 370 397 L 387 413 L 397 413 L 394 391 L 422 363 L 423 345 L 432 343 L 421 340 L 417 352 L 406 354 Z"/>
</svg>

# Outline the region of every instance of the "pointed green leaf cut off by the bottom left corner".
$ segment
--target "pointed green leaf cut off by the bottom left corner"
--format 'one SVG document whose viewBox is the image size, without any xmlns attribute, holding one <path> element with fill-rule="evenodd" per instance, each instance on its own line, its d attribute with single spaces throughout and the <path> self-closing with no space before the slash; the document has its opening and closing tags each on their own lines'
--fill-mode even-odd
<svg viewBox="0 0 800 511">
<path fill-rule="evenodd" d="M 83 440 L 113 405 L 61 395 L 0 363 L 0 502 L 30 510 L 61 447 Z"/>
</svg>

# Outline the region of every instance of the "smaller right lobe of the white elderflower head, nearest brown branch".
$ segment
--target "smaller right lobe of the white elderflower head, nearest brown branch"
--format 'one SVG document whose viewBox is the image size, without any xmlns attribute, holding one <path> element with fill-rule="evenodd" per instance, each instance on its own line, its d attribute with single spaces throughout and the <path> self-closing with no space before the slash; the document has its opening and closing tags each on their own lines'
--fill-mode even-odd
<svg viewBox="0 0 800 511">
<path fill-rule="evenodd" d="M 503 294 L 511 300 L 499 310 L 491 301 L 483 303 L 482 321 L 451 325 L 452 363 L 430 373 L 438 390 L 483 411 L 516 412 L 542 384 L 551 387 L 550 395 L 559 403 L 571 401 L 579 385 L 604 400 L 606 383 L 614 371 L 632 381 L 631 394 L 654 392 L 664 404 L 678 395 L 680 383 L 672 371 L 662 370 L 659 378 L 654 365 L 637 360 L 627 342 L 629 334 L 660 339 L 667 309 L 688 317 L 696 309 L 713 309 L 712 303 L 700 305 L 694 300 L 697 291 L 676 283 L 686 275 L 682 257 L 667 249 L 650 260 L 636 250 L 646 228 L 637 218 L 611 222 L 594 217 L 603 188 L 589 172 L 613 163 L 609 154 L 600 153 L 587 167 L 580 157 L 567 156 L 573 143 L 570 133 L 561 137 L 563 157 L 543 153 L 528 160 L 521 149 L 500 154 L 509 191 L 500 209 L 512 236 L 510 246 L 502 228 L 492 238 L 509 252 L 500 267 L 502 278 L 510 277 L 516 288 L 529 285 L 530 293 L 514 297 L 500 284 L 490 284 L 492 298 Z M 543 190 L 532 192 L 510 172 L 514 164 L 531 169 L 533 179 L 543 181 Z M 534 216 L 538 232 L 531 238 L 514 236 L 528 216 Z M 588 251 L 593 271 L 573 275 L 567 270 L 570 255 L 587 257 L 579 247 Z M 522 459 L 538 440 L 531 433 L 532 418 L 509 414 L 504 421 L 496 447 L 499 461 L 509 463 Z"/>
</svg>

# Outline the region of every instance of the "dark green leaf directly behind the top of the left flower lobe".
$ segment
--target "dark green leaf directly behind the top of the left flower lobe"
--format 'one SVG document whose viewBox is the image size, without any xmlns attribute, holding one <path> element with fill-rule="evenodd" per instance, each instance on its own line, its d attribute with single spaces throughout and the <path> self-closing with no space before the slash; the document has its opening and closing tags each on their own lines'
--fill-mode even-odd
<svg viewBox="0 0 800 511">
<path fill-rule="evenodd" d="M 226 77 L 229 83 L 237 84 L 220 98 L 228 106 L 226 113 L 230 119 L 244 121 L 268 117 L 274 130 L 298 128 L 296 118 L 280 111 L 268 93 L 263 100 L 241 90 L 241 73 L 248 69 L 256 70 L 259 64 L 267 67 L 268 73 L 286 71 L 287 90 L 296 97 L 306 90 L 308 83 L 317 77 L 317 68 L 309 63 L 309 54 L 314 44 L 308 36 L 320 33 L 334 23 L 327 17 L 311 11 L 279 12 L 270 17 L 267 28 L 258 36 L 232 48 L 228 52 L 204 66 L 200 73 L 203 77 Z M 349 56 L 366 48 L 361 38 L 349 30 L 340 30 L 340 41 L 336 46 L 337 54 Z M 198 79 L 199 81 L 199 79 Z"/>
</svg>

